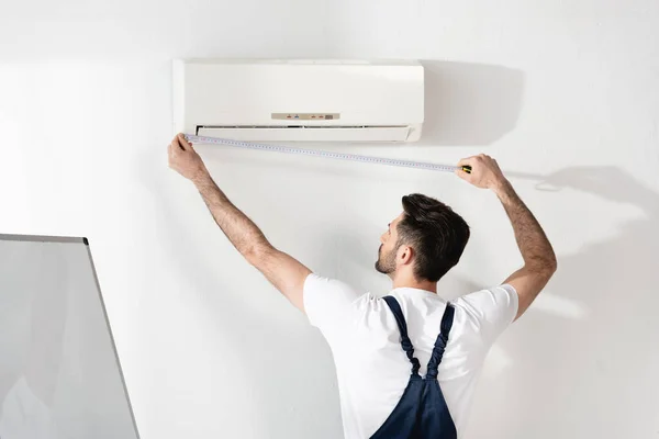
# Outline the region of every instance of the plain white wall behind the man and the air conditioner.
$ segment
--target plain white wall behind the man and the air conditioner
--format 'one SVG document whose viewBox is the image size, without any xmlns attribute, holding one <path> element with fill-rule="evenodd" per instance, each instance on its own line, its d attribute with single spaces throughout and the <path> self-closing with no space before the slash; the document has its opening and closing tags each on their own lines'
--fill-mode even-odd
<svg viewBox="0 0 659 439">
<path fill-rule="evenodd" d="M 421 58 L 427 136 L 333 146 L 496 157 L 559 271 L 492 349 L 469 438 L 659 430 L 659 3 L 14 2 L 0 16 L 0 232 L 88 236 L 142 436 L 337 438 L 331 352 L 167 168 L 174 57 Z M 94 136 L 92 138 L 92 136 Z M 313 270 L 384 293 L 378 236 L 411 192 L 473 229 L 447 297 L 521 259 L 495 198 L 450 175 L 199 147 Z"/>
</svg>

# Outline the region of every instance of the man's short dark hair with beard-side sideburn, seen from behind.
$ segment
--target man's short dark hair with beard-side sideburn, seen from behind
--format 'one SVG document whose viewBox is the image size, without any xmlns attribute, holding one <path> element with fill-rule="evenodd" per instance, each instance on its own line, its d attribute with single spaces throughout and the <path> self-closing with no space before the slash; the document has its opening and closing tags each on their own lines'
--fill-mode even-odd
<svg viewBox="0 0 659 439">
<path fill-rule="evenodd" d="M 458 261 L 469 240 L 469 225 L 438 200 L 413 193 L 403 196 L 405 215 L 398 223 L 398 243 L 414 249 L 414 277 L 437 282 Z"/>
</svg>

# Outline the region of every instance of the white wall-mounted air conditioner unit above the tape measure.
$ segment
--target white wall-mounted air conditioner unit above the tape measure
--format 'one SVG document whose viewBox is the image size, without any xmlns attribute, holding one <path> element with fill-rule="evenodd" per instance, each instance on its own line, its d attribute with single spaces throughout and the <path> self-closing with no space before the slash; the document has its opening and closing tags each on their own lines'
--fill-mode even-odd
<svg viewBox="0 0 659 439">
<path fill-rule="evenodd" d="M 174 61 L 175 132 L 255 142 L 414 142 L 417 61 Z"/>
</svg>

